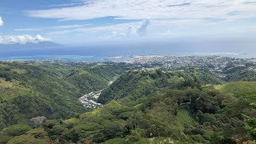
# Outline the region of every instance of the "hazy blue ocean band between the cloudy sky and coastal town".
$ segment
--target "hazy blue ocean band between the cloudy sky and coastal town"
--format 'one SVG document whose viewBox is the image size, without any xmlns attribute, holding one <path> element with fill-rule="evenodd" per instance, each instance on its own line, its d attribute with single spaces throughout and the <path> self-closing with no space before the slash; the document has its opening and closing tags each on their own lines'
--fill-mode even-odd
<svg viewBox="0 0 256 144">
<path fill-rule="evenodd" d="M 62 58 L 67 60 L 102 61 L 105 57 L 146 54 L 222 55 L 255 58 L 252 40 L 186 41 L 186 42 L 123 42 L 86 44 L 84 46 L 9 46 L 0 49 L 0 59 Z"/>
</svg>

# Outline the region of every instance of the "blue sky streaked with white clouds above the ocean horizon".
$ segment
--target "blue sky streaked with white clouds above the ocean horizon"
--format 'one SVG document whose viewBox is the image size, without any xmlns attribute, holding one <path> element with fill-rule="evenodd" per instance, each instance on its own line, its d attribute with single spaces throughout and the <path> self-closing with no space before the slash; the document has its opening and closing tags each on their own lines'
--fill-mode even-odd
<svg viewBox="0 0 256 144">
<path fill-rule="evenodd" d="M 0 44 L 252 38 L 255 0 L 1 0 Z"/>
</svg>

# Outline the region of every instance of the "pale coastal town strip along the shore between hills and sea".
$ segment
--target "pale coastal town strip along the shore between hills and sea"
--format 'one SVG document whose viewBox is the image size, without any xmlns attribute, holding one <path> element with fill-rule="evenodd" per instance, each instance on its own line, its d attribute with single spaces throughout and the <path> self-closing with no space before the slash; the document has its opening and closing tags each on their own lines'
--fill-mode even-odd
<svg viewBox="0 0 256 144">
<path fill-rule="evenodd" d="M 129 57 L 129 58 L 125 58 Z M 107 61 L 98 61 L 98 65 L 110 64 L 111 62 L 127 65 L 128 70 L 145 69 L 177 69 L 182 67 L 197 67 L 198 69 L 209 69 L 219 77 L 226 77 L 225 71 L 242 68 L 243 70 L 256 71 L 256 58 L 232 58 L 219 55 L 134 55 L 134 56 L 115 56 L 104 58 Z M 122 60 L 118 60 L 122 59 Z M 123 60 L 129 59 L 129 60 Z M 32 63 L 57 63 L 59 65 L 90 64 L 94 61 L 70 61 L 66 59 L 10 59 L 0 60 L 2 62 L 32 62 Z"/>
</svg>

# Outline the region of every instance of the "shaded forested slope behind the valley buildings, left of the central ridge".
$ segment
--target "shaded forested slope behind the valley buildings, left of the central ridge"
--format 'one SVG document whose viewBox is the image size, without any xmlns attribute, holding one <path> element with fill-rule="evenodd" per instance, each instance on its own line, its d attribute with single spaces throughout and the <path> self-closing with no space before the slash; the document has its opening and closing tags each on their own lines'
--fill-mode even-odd
<svg viewBox="0 0 256 144">
<path fill-rule="evenodd" d="M 109 82 L 113 81 L 114 76 L 122 74 L 128 66 L 114 62 L 88 64 L 70 73 L 66 80 L 78 88 L 80 93 L 87 94 L 106 88 Z"/>
</svg>

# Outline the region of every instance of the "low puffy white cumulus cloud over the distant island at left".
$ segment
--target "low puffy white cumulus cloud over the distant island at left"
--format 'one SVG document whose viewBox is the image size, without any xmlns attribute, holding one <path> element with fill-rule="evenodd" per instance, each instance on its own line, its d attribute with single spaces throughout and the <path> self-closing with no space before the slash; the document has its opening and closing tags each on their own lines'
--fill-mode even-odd
<svg viewBox="0 0 256 144">
<path fill-rule="evenodd" d="M 15 35 L 15 36 L 0 36 L 0 44 L 26 44 L 26 42 L 50 42 L 50 38 L 43 38 L 41 35 L 35 37 L 31 35 Z"/>
</svg>

